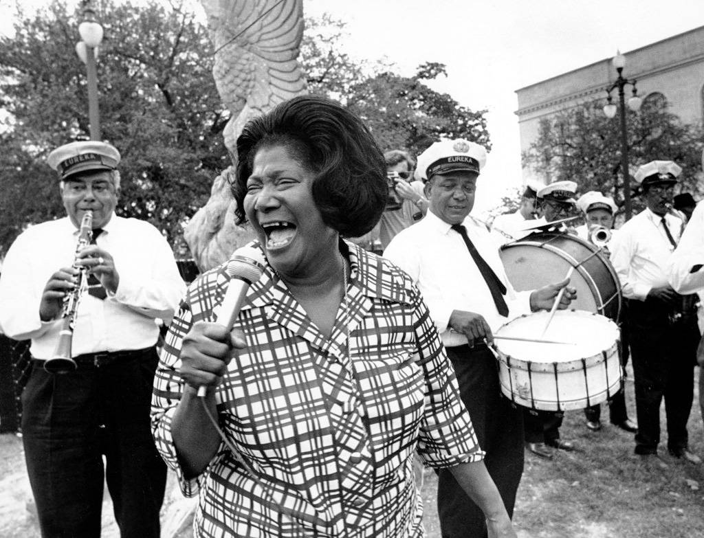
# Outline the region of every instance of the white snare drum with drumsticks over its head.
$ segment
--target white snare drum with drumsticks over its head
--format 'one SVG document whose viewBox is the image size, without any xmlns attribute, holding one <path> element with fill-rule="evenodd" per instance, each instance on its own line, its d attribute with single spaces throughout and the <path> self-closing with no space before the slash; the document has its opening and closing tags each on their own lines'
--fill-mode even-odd
<svg viewBox="0 0 704 538">
<path fill-rule="evenodd" d="M 569 411 L 600 404 L 622 387 L 619 328 L 605 316 L 558 310 L 542 335 L 549 312 L 521 316 L 496 336 L 540 338 L 570 345 L 496 338 L 501 392 L 518 405 Z"/>
</svg>

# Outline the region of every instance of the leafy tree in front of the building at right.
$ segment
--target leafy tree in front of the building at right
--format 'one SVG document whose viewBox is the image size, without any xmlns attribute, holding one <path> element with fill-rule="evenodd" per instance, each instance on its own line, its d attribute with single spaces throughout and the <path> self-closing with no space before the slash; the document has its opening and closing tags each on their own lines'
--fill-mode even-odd
<svg viewBox="0 0 704 538">
<path fill-rule="evenodd" d="M 603 103 L 571 108 L 542 120 L 539 136 L 522 155 L 524 166 L 543 181 L 572 180 L 579 191 L 602 191 L 623 204 L 620 122 L 605 117 Z M 700 155 L 704 134 L 700 127 L 683 124 L 664 107 L 627 113 L 629 174 L 651 160 L 673 160 L 683 172 L 681 191 L 698 196 L 702 189 Z M 634 198 L 634 208 L 642 207 Z"/>
</svg>

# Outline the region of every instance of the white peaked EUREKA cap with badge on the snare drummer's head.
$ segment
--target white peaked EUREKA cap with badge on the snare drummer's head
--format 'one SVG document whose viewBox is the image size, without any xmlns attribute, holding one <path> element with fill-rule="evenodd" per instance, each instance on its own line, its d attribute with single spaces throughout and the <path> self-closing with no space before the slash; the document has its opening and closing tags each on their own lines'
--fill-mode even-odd
<svg viewBox="0 0 704 538">
<path fill-rule="evenodd" d="M 479 175 L 486 164 L 486 150 L 465 139 L 434 142 L 418 155 L 417 175 L 427 181 L 435 174 L 464 170 Z"/>
</svg>

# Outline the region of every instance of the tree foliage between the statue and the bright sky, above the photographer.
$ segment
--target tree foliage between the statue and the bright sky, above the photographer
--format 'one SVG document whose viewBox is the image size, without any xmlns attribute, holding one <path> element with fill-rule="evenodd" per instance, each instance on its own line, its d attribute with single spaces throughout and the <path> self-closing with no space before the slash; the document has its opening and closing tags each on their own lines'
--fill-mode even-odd
<svg viewBox="0 0 704 538">
<path fill-rule="evenodd" d="M 426 83 L 446 76 L 445 65 L 428 62 L 412 77 L 388 63 L 356 63 L 340 51 L 345 25 L 329 15 L 308 19 L 301 56 L 308 89 L 346 104 L 365 120 L 382 150 L 417 155 L 443 138 L 465 138 L 491 149 L 486 110 L 474 112 Z"/>
</svg>

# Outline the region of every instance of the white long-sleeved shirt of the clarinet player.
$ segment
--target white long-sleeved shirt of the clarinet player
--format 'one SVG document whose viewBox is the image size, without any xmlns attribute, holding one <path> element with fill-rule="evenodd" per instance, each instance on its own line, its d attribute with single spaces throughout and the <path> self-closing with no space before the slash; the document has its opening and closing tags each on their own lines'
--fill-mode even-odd
<svg viewBox="0 0 704 538">
<path fill-rule="evenodd" d="M 0 325 L 10 338 L 32 339 L 32 356 L 54 356 L 61 315 L 39 319 L 39 304 L 49 278 L 70 267 L 78 230 L 68 217 L 31 226 L 8 250 L 0 276 Z M 185 292 L 173 253 L 148 222 L 111 217 L 96 244 L 110 253 L 120 276 L 118 288 L 104 300 L 88 293 L 80 299 L 73 356 L 93 352 L 139 350 L 154 345 L 155 319 L 168 323 Z"/>
</svg>

